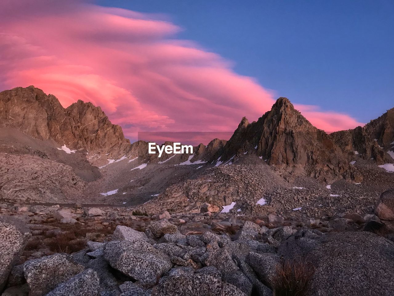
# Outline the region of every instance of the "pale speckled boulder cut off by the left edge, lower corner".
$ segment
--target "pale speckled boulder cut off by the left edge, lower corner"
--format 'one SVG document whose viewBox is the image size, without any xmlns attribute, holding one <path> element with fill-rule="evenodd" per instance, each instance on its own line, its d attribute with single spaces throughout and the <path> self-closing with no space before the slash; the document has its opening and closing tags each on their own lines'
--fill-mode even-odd
<svg viewBox="0 0 394 296">
<path fill-rule="evenodd" d="M 11 269 L 17 264 L 30 235 L 26 229 L 18 229 L 15 225 L 0 221 L 0 291 L 4 288 Z"/>
</svg>

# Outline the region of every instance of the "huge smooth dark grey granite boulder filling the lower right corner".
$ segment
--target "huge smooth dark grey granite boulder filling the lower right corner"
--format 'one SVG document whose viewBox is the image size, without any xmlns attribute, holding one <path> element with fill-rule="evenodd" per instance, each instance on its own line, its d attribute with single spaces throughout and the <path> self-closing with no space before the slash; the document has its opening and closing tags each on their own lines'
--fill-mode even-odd
<svg viewBox="0 0 394 296">
<path fill-rule="evenodd" d="M 285 259 L 307 258 L 316 267 L 312 295 L 393 295 L 394 242 L 371 232 L 292 236 L 278 253 Z"/>
</svg>

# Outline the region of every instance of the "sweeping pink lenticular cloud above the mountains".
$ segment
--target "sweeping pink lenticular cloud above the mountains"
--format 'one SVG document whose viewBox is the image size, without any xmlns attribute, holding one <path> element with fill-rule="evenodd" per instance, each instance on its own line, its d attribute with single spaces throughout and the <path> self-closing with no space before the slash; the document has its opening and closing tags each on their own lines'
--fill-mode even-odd
<svg viewBox="0 0 394 296">
<path fill-rule="evenodd" d="M 221 56 L 175 39 L 181 28 L 160 15 L 75 0 L 2 6 L 0 88 L 34 85 L 64 107 L 91 101 L 132 139 L 138 131 L 232 131 L 242 116 L 256 120 L 275 101 Z M 297 108 L 327 131 L 360 124 Z"/>
</svg>

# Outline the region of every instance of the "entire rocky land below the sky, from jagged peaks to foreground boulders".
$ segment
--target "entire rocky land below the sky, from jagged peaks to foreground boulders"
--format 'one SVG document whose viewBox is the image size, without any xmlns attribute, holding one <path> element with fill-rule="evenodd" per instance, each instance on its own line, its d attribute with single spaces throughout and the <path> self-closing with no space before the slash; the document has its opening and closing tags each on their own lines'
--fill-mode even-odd
<svg viewBox="0 0 394 296">
<path fill-rule="evenodd" d="M 327 134 L 280 97 L 159 157 L 92 103 L 0 92 L 0 295 L 392 296 L 393 110 Z"/>
</svg>

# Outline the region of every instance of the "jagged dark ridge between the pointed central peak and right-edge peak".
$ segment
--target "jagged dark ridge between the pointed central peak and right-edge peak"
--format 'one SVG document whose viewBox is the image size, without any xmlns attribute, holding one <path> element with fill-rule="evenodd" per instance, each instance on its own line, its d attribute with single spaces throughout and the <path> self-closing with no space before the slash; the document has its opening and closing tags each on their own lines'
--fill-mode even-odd
<svg viewBox="0 0 394 296">
<path fill-rule="evenodd" d="M 374 159 L 379 165 L 391 161 L 377 141 L 367 133 L 365 127 L 358 126 L 347 131 L 336 131 L 329 136 L 342 149 L 348 161 L 355 160 L 355 155 L 365 160 Z"/>
</svg>

